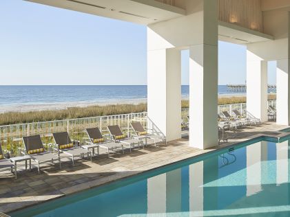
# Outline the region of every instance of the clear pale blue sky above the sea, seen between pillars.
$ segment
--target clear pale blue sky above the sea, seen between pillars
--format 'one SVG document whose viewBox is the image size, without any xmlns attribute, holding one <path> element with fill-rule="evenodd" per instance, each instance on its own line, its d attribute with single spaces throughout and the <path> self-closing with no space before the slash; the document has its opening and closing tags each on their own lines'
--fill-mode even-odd
<svg viewBox="0 0 290 217">
<path fill-rule="evenodd" d="M 147 84 L 146 27 L 22 0 L 0 1 L 0 85 Z M 245 84 L 246 47 L 218 43 L 218 84 Z M 181 53 L 182 84 L 189 52 Z M 269 84 L 276 83 L 269 62 Z"/>
</svg>

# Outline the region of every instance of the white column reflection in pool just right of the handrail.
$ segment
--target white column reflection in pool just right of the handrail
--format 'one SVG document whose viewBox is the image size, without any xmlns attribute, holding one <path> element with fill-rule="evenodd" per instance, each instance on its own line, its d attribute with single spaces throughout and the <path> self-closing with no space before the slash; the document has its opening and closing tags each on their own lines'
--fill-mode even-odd
<svg viewBox="0 0 290 217">
<path fill-rule="evenodd" d="M 261 148 L 262 142 L 247 146 L 247 196 L 262 190 Z"/>
</svg>

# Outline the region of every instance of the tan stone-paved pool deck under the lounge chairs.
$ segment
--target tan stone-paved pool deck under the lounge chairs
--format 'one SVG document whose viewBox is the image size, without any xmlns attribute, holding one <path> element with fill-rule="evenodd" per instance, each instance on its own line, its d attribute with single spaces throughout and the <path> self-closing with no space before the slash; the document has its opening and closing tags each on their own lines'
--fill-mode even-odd
<svg viewBox="0 0 290 217">
<path fill-rule="evenodd" d="M 9 171 L 0 174 L 0 212 L 8 213 L 16 209 L 43 203 L 54 198 L 80 192 L 118 179 L 132 176 L 146 170 L 152 170 L 169 163 L 174 163 L 189 157 L 211 152 L 231 146 L 260 135 L 281 137 L 289 133 L 278 130 L 287 128 L 271 122 L 260 126 L 247 126 L 236 132 L 236 138 L 228 143 L 207 150 L 200 150 L 189 146 L 187 132 L 183 132 L 183 139 L 171 141 L 167 146 L 147 146 L 145 149 L 135 149 L 125 154 L 94 157 L 92 162 L 79 159 L 73 167 L 71 161 L 62 158 L 62 168 L 56 165 L 43 165 L 41 174 L 32 164 L 32 172 L 24 170 L 24 164 L 17 165 L 19 173 L 17 180 Z M 234 133 L 229 133 L 234 136 Z"/>
</svg>

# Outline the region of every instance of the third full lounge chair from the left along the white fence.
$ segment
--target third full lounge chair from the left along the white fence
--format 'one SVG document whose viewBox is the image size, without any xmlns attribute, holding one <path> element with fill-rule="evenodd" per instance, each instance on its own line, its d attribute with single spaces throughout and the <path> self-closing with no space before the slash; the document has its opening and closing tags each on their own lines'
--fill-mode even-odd
<svg viewBox="0 0 290 217">
<path fill-rule="evenodd" d="M 87 145 L 81 146 L 82 148 L 87 148 L 90 149 L 92 147 L 98 148 L 98 155 L 99 155 L 99 148 L 104 148 L 107 150 L 107 155 L 108 157 L 110 156 L 110 151 L 114 152 L 115 150 L 122 149 L 124 153 L 124 144 L 114 141 L 106 141 L 105 138 L 103 137 L 101 131 L 99 128 L 87 128 L 87 136 L 89 137 L 90 141 L 88 142 Z M 94 152 L 94 148 L 93 152 Z"/>
</svg>

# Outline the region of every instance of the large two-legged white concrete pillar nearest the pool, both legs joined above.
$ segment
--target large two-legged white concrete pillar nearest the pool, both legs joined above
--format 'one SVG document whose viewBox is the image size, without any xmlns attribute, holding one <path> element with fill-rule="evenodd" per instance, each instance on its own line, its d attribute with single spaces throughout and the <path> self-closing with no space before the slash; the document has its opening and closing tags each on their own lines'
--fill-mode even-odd
<svg viewBox="0 0 290 217">
<path fill-rule="evenodd" d="M 186 16 L 147 27 L 148 125 L 168 141 L 180 138 L 179 50 L 189 49 L 189 144 L 209 148 L 218 144 L 218 2 L 195 0 L 187 6 Z"/>
</svg>

